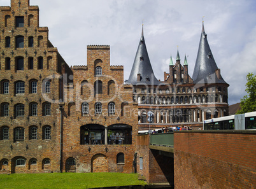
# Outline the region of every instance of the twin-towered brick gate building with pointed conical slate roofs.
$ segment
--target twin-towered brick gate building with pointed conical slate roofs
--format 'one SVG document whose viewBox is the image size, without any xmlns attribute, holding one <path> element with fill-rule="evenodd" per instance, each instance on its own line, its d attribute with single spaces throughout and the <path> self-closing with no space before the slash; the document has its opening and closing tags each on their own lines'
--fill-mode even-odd
<svg viewBox="0 0 256 189">
<path fill-rule="evenodd" d="M 129 80 L 133 85 L 133 100 L 138 102 L 139 130 L 149 128 L 148 111 L 153 111 L 151 127 L 187 125 L 203 126 L 203 120 L 229 114 L 227 87 L 211 53 L 204 25 L 192 78 L 188 74 L 185 56 L 183 66 L 177 52 L 176 63 L 171 57 L 169 73 L 164 81 L 157 80 L 146 50 L 143 28 Z"/>
</svg>

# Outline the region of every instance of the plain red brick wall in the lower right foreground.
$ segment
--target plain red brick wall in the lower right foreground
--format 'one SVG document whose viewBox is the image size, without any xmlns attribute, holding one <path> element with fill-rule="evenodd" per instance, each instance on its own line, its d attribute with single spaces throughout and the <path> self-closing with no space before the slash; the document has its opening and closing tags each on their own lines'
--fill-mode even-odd
<svg viewBox="0 0 256 189">
<path fill-rule="evenodd" d="M 255 131 L 174 132 L 175 188 L 255 188 Z"/>
</svg>

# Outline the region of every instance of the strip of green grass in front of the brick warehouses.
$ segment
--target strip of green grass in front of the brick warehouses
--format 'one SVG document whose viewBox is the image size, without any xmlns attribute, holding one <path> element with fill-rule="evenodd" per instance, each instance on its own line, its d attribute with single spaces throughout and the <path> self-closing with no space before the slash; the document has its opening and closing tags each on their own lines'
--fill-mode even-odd
<svg viewBox="0 0 256 189">
<path fill-rule="evenodd" d="M 0 188 L 97 188 L 145 185 L 138 174 L 118 172 L 0 174 Z"/>
</svg>

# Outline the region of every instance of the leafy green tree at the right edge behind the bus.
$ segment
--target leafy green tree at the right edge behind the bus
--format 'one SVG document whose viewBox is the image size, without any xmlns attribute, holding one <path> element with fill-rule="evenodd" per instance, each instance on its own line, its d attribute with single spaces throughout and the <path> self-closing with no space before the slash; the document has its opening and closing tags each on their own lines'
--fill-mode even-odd
<svg viewBox="0 0 256 189">
<path fill-rule="evenodd" d="M 237 114 L 256 111 L 256 75 L 254 76 L 253 73 L 248 73 L 246 80 L 245 91 L 248 95 L 245 95 L 241 99 L 241 109 Z"/>
</svg>

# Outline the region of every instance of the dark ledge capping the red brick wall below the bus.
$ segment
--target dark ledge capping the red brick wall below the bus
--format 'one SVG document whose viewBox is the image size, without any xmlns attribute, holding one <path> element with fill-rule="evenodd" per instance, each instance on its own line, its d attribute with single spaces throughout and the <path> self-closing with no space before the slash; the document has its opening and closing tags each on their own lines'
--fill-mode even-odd
<svg viewBox="0 0 256 189">
<path fill-rule="evenodd" d="M 248 130 L 176 130 L 175 134 L 178 133 L 190 133 L 190 132 L 198 132 L 198 133 L 218 133 L 218 134 L 256 134 L 256 129 L 248 129 Z"/>
</svg>

